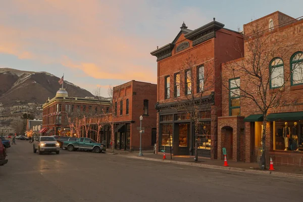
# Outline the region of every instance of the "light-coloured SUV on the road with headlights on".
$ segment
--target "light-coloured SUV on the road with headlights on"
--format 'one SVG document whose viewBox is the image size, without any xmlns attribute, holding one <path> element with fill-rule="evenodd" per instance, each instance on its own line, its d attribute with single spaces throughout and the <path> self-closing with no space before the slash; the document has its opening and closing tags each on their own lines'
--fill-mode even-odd
<svg viewBox="0 0 303 202">
<path fill-rule="evenodd" d="M 36 153 L 38 150 L 39 155 L 44 152 L 56 152 L 57 155 L 60 153 L 59 143 L 55 137 L 52 136 L 38 136 L 34 139 L 33 151 Z"/>
</svg>

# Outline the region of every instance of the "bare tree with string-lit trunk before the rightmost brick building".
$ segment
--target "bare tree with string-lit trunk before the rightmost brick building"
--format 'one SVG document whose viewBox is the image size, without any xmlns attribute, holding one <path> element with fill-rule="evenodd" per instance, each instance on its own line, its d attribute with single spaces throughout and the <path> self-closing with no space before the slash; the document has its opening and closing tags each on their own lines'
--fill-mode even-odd
<svg viewBox="0 0 303 202">
<path fill-rule="evenodd" d="M 247 25 L 249 26 L 249 25 Z M 226 63 L 222 68 L 222 83 L 229 91 L 230 97 L 238 99 L 237 105 L 247 109 L 255 107 L 263 115 L 261 168 L 266 166 L 266 133 L 267 114 L 270 109 L 280 105 L 285 95 L 285 84 L 289 82 L 292 72 L 286 70 L 282 59 L 288 54 L 291 46 L 277 45 L 281 37 L 279 32 L 266 33 L 271 30 L 263 29 L 258 21 L 247 27 L 248 35 L 244 33 L 245 56 L 241 45 L 237 44 L 235 50 L 241 53 L 242 58 Z M 286 70 L 286 71 L 285 71 Z M 239 79 L 238 79 L 239 77 Z M 230 80 L 230 78 L 235 78 Z M 241 82 L 240 82 L 241 80 Z M 242 112 L 242 109 L 241 109 Z"/>
</svg>

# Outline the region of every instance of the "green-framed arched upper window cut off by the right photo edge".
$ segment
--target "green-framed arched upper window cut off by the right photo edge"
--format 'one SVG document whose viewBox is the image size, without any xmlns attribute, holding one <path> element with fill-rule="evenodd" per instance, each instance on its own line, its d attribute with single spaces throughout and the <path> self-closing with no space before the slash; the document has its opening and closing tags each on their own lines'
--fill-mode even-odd
<svg viewBox="0 0 303 202">
<path fill-rule="evenodd" d="M 291 85 L 303 84 L 303 52 L 294 53 L 290 58 Z"/>
</svg>

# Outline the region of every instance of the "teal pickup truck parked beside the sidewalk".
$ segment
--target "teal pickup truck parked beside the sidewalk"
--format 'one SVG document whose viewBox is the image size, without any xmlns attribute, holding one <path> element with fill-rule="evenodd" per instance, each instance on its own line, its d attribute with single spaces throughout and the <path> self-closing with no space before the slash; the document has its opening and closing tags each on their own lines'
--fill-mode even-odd
<svg viewBox="0 0 303 202">
<path fill-rule="evenodd" d="M 104 144 L 97 143 L 93 139 L 87 137 L 77 138 L 76 141 L 64 141 L 62 148 L 67 148 L 69 151 L 75 151 L 77 149 L 91 150 L 94 153 L 106 151 Z"/>
</svg>

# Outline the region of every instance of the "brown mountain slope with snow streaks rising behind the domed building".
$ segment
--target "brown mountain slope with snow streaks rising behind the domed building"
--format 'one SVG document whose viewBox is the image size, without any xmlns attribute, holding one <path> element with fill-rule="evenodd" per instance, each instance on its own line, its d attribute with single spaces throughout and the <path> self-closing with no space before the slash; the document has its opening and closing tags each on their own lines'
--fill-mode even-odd
<svg viewBox="0 0 303 202">
<path fill-rule="evenodd" d="M 43 104 L 52 98 L 60 88 L 56 77 L 47 72 L 28 72 L 10 68 L 0 68 L 0 103 Z M 65 81 L 64 87 L 70 96 L 93 96 L 89 91 Z"/>
</svg>

